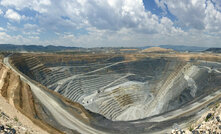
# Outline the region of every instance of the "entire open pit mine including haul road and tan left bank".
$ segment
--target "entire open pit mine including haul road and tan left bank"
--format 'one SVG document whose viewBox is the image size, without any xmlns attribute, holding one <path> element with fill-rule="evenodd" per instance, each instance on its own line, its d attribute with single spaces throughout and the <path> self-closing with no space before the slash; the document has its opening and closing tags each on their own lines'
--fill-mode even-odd
<svg viewBox="0 0 221 134">
<path fill-rule="evenodd" d="M 1 94 L 49 133 L 169 133 L 221 98 L 216 54 L 18 53 L 3 63 Z"/>
</svg>

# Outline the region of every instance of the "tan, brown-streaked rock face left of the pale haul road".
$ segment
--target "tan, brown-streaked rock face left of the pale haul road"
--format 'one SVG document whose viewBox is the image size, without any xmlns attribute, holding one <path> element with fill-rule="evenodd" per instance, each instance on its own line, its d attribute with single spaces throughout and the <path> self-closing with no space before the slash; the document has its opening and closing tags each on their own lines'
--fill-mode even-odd
<svg viewBox="0 0 221 134">
<path fill-rule="evenodd" d="M 10 105 L 49 132 L 58 132 L 42 121 L 41 106 L 35 102 L 29 85 L 5 65 L 0 63 L 0 94 Z"/>
</svg>

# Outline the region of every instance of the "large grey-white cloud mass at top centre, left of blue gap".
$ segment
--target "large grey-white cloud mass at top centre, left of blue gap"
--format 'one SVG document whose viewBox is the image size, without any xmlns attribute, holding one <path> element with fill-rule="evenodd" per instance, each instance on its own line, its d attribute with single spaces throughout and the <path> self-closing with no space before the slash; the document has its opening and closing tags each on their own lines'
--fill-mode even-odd
<svg viewBox="0 0 221 134">
<path fill-rule="evenodd" d="M 54 14 L 57 14 L 70 18 L 73 26 L 110 31 L 128 28 L 146 34 L 162 32 L 161 28 L 164 25 L 161 23 L 162 18 L 145 10 L 142 0 L 66 0 L 61 3 L 59 9 L 62 11 L 53 10 L 48 14 L 50 17 L 42 17 L 40 22 L 55 22 L 53 18 Z M 173 25 L 170 26 L 164 30 L 176 29 Z"/>
</svg>

